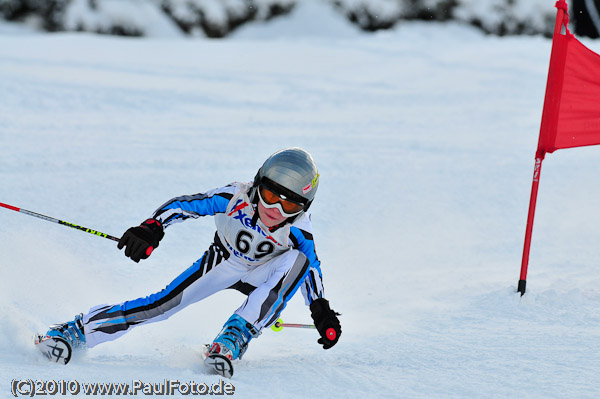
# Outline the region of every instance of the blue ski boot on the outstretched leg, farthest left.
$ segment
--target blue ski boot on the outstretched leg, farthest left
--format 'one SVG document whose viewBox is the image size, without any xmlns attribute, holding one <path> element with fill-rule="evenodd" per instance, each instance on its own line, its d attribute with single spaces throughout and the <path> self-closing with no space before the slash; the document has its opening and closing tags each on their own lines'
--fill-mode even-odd
<svg viewBox="0 0 600 399">
<path fill-rule="evenodd" d="M 48 360 L 69 363 L 73 349 L 85 348 L 83 314 L 75 316 L 73 321 L 51 325 L 46 335 L 37 336 L 35 345 Z"/>
</svg>

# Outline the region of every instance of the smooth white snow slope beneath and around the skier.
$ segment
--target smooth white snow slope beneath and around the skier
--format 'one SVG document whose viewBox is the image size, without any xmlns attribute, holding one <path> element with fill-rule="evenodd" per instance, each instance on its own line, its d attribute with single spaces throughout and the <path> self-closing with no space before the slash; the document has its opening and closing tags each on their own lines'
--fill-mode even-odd
<svg viewBox="0 0 600 399">
<path fill-rule="evenodd" d="M 0 202 L 120 235 L 164 201 L 249 181 L 277 149 L 320 169 L 313 205 L 343 335 L 264 331 L 234 397 L 597 398 L 600 149 L 548 155 L 516 294 L 550 41 L 406 23 L 247 26 L 225 41 L 0 31 Z M 323 11 L 323 12 L 322 12 Z M 598 42 L 585 42 L 600 52 Z M 48 364 L 32 336 L 163 288 L 212 219 L 135 264 L 114 242 L 0 209 L 0 396 L 13 379 L 215 383 L 199 348 L 243 296 Z M 300 295 L 288 322 L 310 322 Z M 80 396 L 83 396 L 81 394 Z"/>
</svg>

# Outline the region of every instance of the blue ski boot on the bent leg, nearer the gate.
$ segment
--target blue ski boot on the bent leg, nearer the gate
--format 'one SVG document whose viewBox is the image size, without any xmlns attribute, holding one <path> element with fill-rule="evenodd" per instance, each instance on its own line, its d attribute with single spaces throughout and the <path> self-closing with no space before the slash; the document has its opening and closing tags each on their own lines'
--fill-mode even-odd
<svg viewBox="0 0 600 399">
<path fill-rule="evenodd" d="M 241 359 L 248 349 L 250 340 L 259 335 L 260 332 L 252 324 L 234 314 L 223 325 L 223 329 L 212 345 L 206 345 L 204 364 L 223 377 L 231 378 L 233 375 L 231 362 Z"/>
</svg>

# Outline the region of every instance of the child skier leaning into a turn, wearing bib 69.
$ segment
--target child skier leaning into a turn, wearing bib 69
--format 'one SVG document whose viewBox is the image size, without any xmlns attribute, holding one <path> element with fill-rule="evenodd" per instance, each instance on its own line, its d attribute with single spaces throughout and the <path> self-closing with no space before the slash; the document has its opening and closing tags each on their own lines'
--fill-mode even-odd
<svg viewBox="0 0 600 399">
<path fill-rule="evenodd" d="M 225 322 L 205 364 L 225 377 L 232 360 L 241 359 L 252 338 L 275 323 L 301 287 L 324 349 L 342 333 L 337 313 L 323 297 L 320 262 L 307 213 L 319 185 L 316 165 L 306 151 L 289 148 L 271 155 L 252 183 L 232 183 L 206 193 L 176 197 L 158 208 L 119 241 L 135 262 L 146 259 L 164 229 L 189 218 L 214 215 L 217 231 L 204 255 L 162 291 L 115 305 L 95 306 L 75 320 L 50 326 L 40 341 L 50 341 L 46 355 L 67 363 L 70 348 L 93 347 L 131 328 L 160 320 L 217 291 L 236 289 L 246 300 Z M 61 356 L 60 343 L 67 355 Z M 67 345 L 68 344 L 68 345 Z M 65 352 L 65 353 L 66 353 Z"/>
</svg>

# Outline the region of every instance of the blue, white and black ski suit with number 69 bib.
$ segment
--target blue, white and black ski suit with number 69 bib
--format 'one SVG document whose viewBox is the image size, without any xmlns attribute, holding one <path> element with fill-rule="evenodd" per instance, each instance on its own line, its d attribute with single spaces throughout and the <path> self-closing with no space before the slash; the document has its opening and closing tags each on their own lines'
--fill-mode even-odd
<svg viewBox="0 0 600 399">
<path fill-rule="evenodd" d="M 250 189 L 250 184 L 232 183 L 173 198 L 156 210 L 152 217 L 165 229 L 189 218 L 213 215 L 217 226 L 214 242 L 162 291 L 90 309 L 83 317 L 87 346 L 114 340 L 134 326 L 164 320 L 227 288 L 248 295 L 235 313 L 258 331 L 277 320 L 299 287 L 307 305 L 322 298 L 310 215 L 269 229 L 255 215 L 258 211 L 248 196 Z"/>
</svg>

